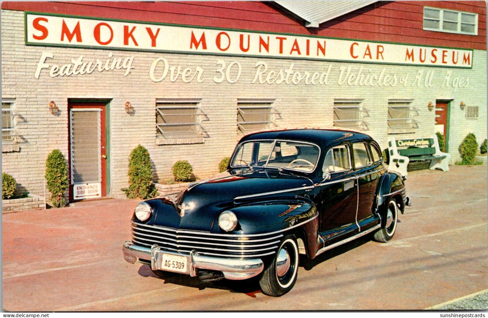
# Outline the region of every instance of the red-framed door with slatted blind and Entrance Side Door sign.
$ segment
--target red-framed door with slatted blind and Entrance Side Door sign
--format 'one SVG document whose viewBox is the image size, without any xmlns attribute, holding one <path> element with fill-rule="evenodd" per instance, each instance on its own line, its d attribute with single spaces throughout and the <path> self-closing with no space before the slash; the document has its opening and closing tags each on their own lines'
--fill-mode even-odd
<svg viewBox="0 0 488 318">
<path fill-rule="evenodd" d="M 70 200 L 106 196 L 105 103 L 69 103 Z"/>
</svg>

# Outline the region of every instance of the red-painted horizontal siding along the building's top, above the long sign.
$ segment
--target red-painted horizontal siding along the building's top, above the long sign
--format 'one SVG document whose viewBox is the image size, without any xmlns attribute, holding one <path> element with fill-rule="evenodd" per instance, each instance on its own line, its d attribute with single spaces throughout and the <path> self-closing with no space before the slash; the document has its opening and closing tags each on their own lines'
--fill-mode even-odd
<svg viewBox="0 0 488 318">
<path fill-rule="evenodd" d="M 7 10 L 36 11 L 105 19 L 188 24 L 263 32 L 387 41 L 486 50 L 484 1 L 378 1 L 342 17 L 306 28 L 272 2 L 2 2 Z M 423 30 L 423 8 L 431 6 L 478 14 L 478 35 Z"/>
</svg>

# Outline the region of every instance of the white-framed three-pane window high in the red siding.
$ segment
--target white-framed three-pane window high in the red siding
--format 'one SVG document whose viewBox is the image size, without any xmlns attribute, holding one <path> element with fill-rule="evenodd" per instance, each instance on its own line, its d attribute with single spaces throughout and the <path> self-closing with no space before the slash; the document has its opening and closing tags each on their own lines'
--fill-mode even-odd
<svg viewBox="0 0 488 318">
<path fill-rule="evenodd" d="M 424 30 L 478 35 L 478 14 L 424 7 Z"/>
</svg>

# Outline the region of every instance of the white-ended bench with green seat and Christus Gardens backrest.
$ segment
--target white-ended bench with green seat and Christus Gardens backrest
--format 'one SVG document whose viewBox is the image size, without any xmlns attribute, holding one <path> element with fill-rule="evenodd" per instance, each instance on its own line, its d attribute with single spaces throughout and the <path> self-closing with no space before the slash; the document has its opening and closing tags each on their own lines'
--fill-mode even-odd
<svg viewBox="0 0 488 318">
<path fill-rule="evenodd" d="M 407 176 L 408 162 L 430 160 L 430 170 L 449 171 L 451 156 L 439 149 L 439 142 L 433 138 L 395 139 L 388 137 L 390 162 L 388 169 Z"/>
</svg>

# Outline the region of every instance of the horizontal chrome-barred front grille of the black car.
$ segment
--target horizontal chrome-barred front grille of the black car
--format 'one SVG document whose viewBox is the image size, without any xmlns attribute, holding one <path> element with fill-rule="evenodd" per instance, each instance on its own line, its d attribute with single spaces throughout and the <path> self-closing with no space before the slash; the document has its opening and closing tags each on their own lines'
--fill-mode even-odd
<svg viewBox="0 0 488 318">
<path fill-rule="evenodd" d="M 282 233 L 260 235 L 212 234 L 208 232 L 177 230 L 169 227 L 132 222 L 132 242 L 179 253 L 197 253 L 208 256 L 251 258 L 273 255 L 280 244 Z"/>
</svg>

